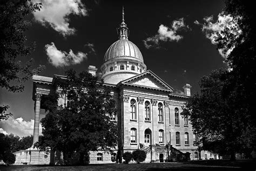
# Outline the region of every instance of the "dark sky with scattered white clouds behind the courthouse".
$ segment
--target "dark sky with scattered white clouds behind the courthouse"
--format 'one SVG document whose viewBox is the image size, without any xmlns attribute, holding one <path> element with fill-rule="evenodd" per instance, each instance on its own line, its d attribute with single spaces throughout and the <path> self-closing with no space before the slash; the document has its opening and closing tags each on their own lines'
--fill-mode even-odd
<svg viewBox="0 0 256 171">
<path fill-rule="evenodd" d="M 28 16 L 31 26 L 27 43 L 36 50 L 23 62 L 35 59 L 33 67 L 44 65 L 41 76 L 53 77 L 73 68 L 78 73 L 95 65 L 100 74 L 104 54 L 118 40 L 122 22 L 130 30 L 129 40 L 139 47 L 148 70 L 156 73 L 176 93 L 190 84 L 191 93 L 200 91 L 198 82 L 212 70 L 227 68 L 226 54 L 217 50 L 214 35 L 232 24 L 221 13 L 225 4 L 215 1 L 46 1 L 43 9 Z M 19 136 L 32 134 L 34 101 L 32 79 L 22 93 L 0 90 L 0 105 L 11 106 L 13 117 L 0 121 L 0 132 Z M 41 110 L 41 118 L 44 117 Z"/>
</svg>

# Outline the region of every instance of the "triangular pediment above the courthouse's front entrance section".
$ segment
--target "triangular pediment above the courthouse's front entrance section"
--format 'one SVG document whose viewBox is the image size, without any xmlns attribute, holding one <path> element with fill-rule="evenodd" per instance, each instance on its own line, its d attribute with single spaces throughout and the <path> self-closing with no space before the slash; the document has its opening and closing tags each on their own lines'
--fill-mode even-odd
<svg viewBox="0 0 256 171">
<path fill-rule="evenodd" d="M 173 88 L 161 80 L 156 74 L 148 70 L 137 76 L 121 81 L 121 84 L 173 91 Z"/>
</svg>

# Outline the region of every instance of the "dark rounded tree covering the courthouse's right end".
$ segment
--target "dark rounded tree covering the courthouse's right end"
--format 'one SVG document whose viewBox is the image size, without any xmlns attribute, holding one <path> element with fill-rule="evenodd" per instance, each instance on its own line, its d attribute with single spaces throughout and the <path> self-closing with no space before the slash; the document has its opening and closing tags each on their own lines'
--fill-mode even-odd
<svg viewBox="0 0 256 171">
<path fill-rule="evenodd" d="M 204 149 L 215 152 L 218 149 L 217 152 L 231 154 L 235 160 L 236 152 L 250 148 L 255 133 L 246 136 L 249 133 L 247 113 L 235 107 L 235 93 L 226 95 L 226 85 L 233 79 L 227 73 L 215 70 L 201 78 L 200 94 L 188 98 L 181 114 L 190 118 L 194 132 L 208 144 L 203 145 Z"/>
</svg>

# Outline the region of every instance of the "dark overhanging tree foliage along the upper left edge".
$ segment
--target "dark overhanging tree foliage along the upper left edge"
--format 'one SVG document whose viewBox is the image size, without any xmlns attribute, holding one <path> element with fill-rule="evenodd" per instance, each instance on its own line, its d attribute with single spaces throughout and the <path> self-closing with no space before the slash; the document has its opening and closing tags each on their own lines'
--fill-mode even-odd
<svg viewBox="0 0 256 171">
<path fill-rule="evenodd" d="M 22 92 L 23 83 L 44 68 L 31 69 L 33 59 L 25 65 L 17 60 L 29 56 L 35 49 L 35 43 L 26 44 L 25 31 L 30 25 L 24 18 L 33 11 L 40 10 L 41 3 L 32 4 L 27 0 L 0 2 L 0 86 L 11 92 Z M 7 119 L 11 114 L 5 113 L 8 105 L 0 106 L 0 120 Z"/>
</svg>

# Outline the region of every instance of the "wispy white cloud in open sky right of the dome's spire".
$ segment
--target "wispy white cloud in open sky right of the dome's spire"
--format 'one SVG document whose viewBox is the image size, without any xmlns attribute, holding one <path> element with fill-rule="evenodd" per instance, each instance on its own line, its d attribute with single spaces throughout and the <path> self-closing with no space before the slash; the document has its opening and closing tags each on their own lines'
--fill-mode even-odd
<svg viewBox="0 0 256 171">
<path fill-rule="evenodd" d="M 158 33 L 155 36 L 146 38 L 143 43 L 147 49 L 151 47 L 159 48 L 160 42 L 178 42 L 183 36 L 178 35 L 177 31 L 181 29 L 189 29 L 184 23 L 184 18 L 173 20 L 171 28 L 161 24 L 158 29 Z"/>
</svg>

